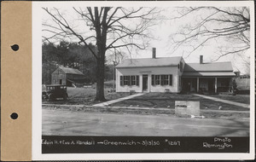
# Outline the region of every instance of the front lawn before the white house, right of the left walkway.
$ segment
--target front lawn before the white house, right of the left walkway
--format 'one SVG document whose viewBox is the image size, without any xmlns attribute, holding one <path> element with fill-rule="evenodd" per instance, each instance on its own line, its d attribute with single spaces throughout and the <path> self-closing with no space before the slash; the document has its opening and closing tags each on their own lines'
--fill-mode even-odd
<svg viewBox="0 0 256 162">
<path fill-rule="evenodd" d="M 212 95 L 213 96 L 213 95 Z M 214 95 L 214 97 L 222 99 L 227 99 L 230 101 L 241 101 L 242 103 L 248 103 L 249 95 Z M 237 99 L 237 100 L 236 100 Z M 212 101 L 208 99 L 201 98 L 195 95 L 181 95 L 181 94 L 171 94 L 171 93 L 147 93 L 145 95 L 132 98 L 130 100 L 120 101 L 113 103 L 110 106 L 119 107 L 162 107 L 162 108 L 175 108 L 175 101 L 200 101 L 201 109 L 218 110 L 248 110 L 247 108 L 238 107 L 230 104 L 226 104 L 219 101 Z"/>
</svg>

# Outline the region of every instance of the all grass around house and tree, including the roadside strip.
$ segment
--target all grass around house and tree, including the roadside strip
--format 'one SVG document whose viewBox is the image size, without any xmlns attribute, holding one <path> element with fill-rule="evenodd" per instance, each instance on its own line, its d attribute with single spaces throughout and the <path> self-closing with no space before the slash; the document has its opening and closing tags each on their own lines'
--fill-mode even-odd
<svg viewBox="0 0 256 162">
<path fill-rule="evenodd" d="M 112 84 L 108 83 L 107 86 L 105 86 L 105 97 L 109 100 L 114 100 L 117 98 L 125 97 L 127 95 L 130 95 L 130 93 L 115 93 L 111 92 L 112 90 Z M 204 98 L 201 98 L 199 96 L 195 95 L 181 95 L 181 94 L 170 94 L 170 93 L 147 93 L 141 96 L 137 96 L 135 98 L 132 98 L 130 100 L 125 101 L 119 101 L 116 103 L 113 103 L 110 106 L 113 107 L 155 107 L 148 110 L 143 109 L 129 109 L 129 108 L 122 108 L 122 109 L 116 109 L 116 108 L 106 108 L 106 107 L 86 107 L 91 106 L 96 103 L 99 103 L 98 101 L 94 101 L 96 96 L 96 88 L 95 86 L 92 86 L 92 88 L 67 88 L 67 93 L 69 95 L 67 101 L 59 100 L 59 101 L 44 101 L 45 104 L 62 104 L 62 105 L 83 105 L 83 108 L 85 112 L 96 112 L 96 113 L 119 113 L 119 114 L 144 114 L 144 115 L 175 115 L 175 101 L 200 101 L 200 108 L 201 115 L 204 115 L 207 118 L 249 118 L 249 113 L 242 113 L 241 111 L 248 111 L 247 108 L 237 107 L 234 105 L 225 104 L 218 101 L 212 101 L 207 100 Z M 216 98 L 229 100 L 229 101 L 237 101 L 241 103 L 247 103 L 249 104 L 249 95 L 210 95 Z M 85 106 L 85 107 L 84 107 Z M 44 106 L 48 107 L 48 106 Z M 55 106 L 53 106 L 55 107 Z M 158 107 L 161 108 L 167 108 L 166 110 L 158 109 Z M 237 113 L 230 113 L 227 111 L 224 112 L 212 112 L 207 110 L 219 110 L 219 107 L 222 107 L 221 110 L 238 110 L 240 112 Z M 61 109 L 67 109 L 69 111 L 82 111 L 79 108 L 75 107 L 59 107 Z"/>
</svg>

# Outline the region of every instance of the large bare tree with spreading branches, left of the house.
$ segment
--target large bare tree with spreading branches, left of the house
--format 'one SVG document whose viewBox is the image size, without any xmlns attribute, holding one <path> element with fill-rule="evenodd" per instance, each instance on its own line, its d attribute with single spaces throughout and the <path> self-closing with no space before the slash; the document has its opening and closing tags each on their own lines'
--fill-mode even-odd
<svg viewBox="0 0 256 162">
<path fill-rule="evenodd" d="M 70 38 L 88 45 L 96 43 L 97 51 L 90 49 L 95 56 L 96 66 L 96 101 L 105 101 L 104 97 L 104 63 L 107 50 L 122 48 L 145 49 L 150 38 L 150 27 L 155 25 L 159 11 L 155 8 L 73 8 L 78 15 L 77 21 L 84 26 L 74 26 L 67 19 L 67 13 L 60 9 L 43 8 L 51 16 L 43 23 L 44 40 L 52 38 Z M 50 33 L 50 34 L 49 34 Z"/>
</svg>

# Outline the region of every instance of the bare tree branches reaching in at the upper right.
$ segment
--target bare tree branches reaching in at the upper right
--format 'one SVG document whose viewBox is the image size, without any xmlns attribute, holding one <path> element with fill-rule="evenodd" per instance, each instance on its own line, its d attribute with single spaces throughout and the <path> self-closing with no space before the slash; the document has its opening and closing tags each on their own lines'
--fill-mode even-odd
<svg viewBox="0 0 256 162">
<path fill-rule="evenodd" d="M 240 55 L 250 49 L 250 11 L 248 7 L 181 7 L 174 20 L 185 25 L 171 35 L 173 51 L 186 46 L 187 56 L 207 43 L 218 46 L 218 61 L 224 55 Z M 215 44 L 214 44 L 215 43 Z M 218 44 L 218 45 L 217 45 Z M 221 44 L 221 45 L 219 45 Z"/>
</svg>

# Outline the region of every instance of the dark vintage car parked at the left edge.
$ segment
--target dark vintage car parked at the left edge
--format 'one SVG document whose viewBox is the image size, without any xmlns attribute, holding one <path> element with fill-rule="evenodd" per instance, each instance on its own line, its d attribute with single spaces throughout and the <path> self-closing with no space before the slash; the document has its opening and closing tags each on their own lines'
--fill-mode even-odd
<svg viewBox="0 0 256 162">
<path fill-rule="evenodd" d="M 46 90 L 42 92 L 42 99 L 55 101 L 56 98 L 63 98 L 67 100 L 67 86 L 66 85 L 46 85 Z"/>
</svg>

